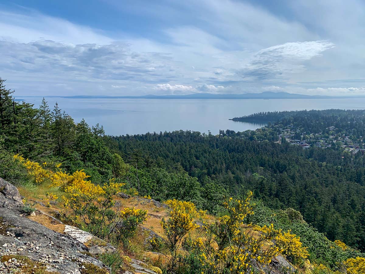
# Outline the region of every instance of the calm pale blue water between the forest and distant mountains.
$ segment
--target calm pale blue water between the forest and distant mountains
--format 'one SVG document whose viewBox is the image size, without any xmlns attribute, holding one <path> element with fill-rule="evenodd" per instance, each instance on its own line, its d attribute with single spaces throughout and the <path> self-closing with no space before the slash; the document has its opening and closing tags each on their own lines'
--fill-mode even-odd
<svg viewBox="0 0 365 274">
<path fill-rule="evenodd" d="M 39 106 L 42 98 L 19 97 Z M 220 129 L 244 131 L 264 125 L 228 119 L 260 111 L 365 109 L 365 99 L 66 99 L 46 98 L 89 125 L 103 125 L 106 134 L 123 135 L 172 130 L 218 134 Z"/>
</svg>

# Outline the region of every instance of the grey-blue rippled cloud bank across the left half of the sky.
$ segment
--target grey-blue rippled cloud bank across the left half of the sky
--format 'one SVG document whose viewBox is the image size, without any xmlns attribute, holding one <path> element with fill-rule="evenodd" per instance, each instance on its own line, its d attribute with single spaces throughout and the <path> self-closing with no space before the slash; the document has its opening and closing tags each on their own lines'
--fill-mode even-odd
<svg viewBox="0 0 365 274">
<path fill-rule="evenodd" d="M 169 55 L 133 52 L 130 45 L 59 43 L 38 40 L 29 43 L 0 41 L 3 69 L 42 73 L 79 80 L 131 80 L 159 82 L 173 76 Z"/>
</svg>

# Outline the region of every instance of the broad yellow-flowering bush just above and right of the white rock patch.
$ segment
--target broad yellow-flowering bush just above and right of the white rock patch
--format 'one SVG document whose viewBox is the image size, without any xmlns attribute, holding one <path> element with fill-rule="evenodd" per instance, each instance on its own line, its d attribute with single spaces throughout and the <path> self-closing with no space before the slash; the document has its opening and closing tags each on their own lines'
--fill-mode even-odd
<svg viewBox="0 0 365 274">
<path fill-rule="evenodd" d="M 122 190 L 124 183 L 110 179 L 103 186 L 87 180 L 85 172 L 76 171 L 72 175 L 62 174 L 64 180 L 54 180 L 53 185 L 62 183 L 65 192 L 61 198 L 66 209 L 70 209 L 76 218 L 80 218 L 85 229 L 93 235 L 107 238 L 124 245 L 134 235 L 137 225 L 147 218 L 147 210 L 125 208 L 114 209 L 114 197 Z"/>
</svg>

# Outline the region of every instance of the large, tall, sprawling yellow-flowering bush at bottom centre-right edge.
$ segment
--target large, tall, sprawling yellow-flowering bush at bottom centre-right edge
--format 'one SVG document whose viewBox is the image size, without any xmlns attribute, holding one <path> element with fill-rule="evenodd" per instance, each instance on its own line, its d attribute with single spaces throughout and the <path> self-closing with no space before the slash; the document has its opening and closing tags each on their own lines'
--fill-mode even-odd
<svg viewBox="0 0 365 274">
<path fill-rule="evenodd" d="M 253 214 L 251 197 L 249 192 L 244 200 L 228 199 L 223 203 L 224 215 L 212 223 L 204 222 L 203 238 L 185 240 L 188 273 L 253 273 L 257 263 L 267 265 L 278 254 L 278 247 L 272 243 L 272 225 L 255 233 L 243 224 L 247 215 Z"/>
</svg>

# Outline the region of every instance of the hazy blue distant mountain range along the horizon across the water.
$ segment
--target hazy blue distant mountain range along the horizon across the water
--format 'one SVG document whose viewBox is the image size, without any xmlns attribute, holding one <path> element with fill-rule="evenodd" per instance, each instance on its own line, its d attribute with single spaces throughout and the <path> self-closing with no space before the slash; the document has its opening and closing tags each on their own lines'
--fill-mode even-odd
<svg viewBox="0 0 365 274">
<path fill-rule="evenodd" d="M 42 97 L 42 96 L 32 96 Z M 261 93 L 244 93 L 244 94 L 211 94 L 195 93 L 187 95 L 143 95 L 143 96 L 103 96 L 103 95 L 75 95 L 75 96 L 45 96 L 48 98 L 74 98 L 74 99 L 333 99 L 333 98 L 365 98 L 364 96 L 321 96 L 321 95 L 304 95 L 288 92 L 265 91 Z"/>
</svg>

